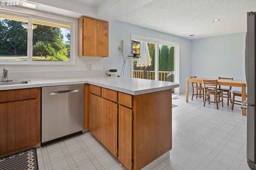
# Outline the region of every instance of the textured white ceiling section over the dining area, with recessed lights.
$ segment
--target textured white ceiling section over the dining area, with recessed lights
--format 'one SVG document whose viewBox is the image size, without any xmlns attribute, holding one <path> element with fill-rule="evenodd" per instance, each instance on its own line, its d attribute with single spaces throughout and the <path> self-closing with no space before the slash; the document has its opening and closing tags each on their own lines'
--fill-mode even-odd
<svg viewBox="0 0 256 170">
<path fill-rule="evenodd" d="M 249 11 L 256 11 L 256 0 L 154 0 L 117 20 L 199 39 L 246 31 Z"/>
</svg>

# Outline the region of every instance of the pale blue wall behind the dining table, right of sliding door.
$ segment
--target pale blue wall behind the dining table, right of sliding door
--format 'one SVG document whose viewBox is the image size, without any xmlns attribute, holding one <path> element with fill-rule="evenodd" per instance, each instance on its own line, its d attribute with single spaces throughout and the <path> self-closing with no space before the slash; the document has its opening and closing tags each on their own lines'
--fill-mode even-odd
<svg viewBox="0 0 256 170">
<path fill-rule="evenodd" d="M 244 80 L 245 36 L 242 32 L 192 40 L 191 76 Z"/>
</svg>

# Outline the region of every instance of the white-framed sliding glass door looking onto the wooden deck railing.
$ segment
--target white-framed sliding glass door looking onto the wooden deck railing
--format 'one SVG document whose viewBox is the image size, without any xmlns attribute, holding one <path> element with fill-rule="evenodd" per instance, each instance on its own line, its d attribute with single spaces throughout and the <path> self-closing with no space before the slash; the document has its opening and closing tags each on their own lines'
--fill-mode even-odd
<svg viewBox="0 0 256 170">
<path fill-rule="evenodd" d="M 166 82 L 179 82 L 178 80 L 178 51 L 179 44 L 152 39 L 138 35 L 131 35 L 131 39 L 146 42 L 150 54 L 150 66 L 139 66 L 138 59 L 133 61 L 133 77 Z M 179 88 L 172 90 L 172 94 L 179 94 Z"/>
</svg>

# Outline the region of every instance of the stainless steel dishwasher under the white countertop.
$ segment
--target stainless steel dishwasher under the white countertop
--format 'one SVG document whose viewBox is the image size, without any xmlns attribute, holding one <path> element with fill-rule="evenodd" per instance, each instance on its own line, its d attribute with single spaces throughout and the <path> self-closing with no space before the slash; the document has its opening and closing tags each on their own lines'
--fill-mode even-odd
<svg viewBox="0 0 256 170">
<path fill-rule="evenodd" d="M 54 141 L 82 133 L 84 84 L 42 87 L 42 141 Z"/>
</svg>

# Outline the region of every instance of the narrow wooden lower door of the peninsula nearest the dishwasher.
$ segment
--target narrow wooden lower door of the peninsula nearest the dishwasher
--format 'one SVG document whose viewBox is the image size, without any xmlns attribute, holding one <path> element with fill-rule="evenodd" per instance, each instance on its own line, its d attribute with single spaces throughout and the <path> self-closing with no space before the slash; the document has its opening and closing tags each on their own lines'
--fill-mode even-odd
<svg viewBox="0 0 256 170">
<path fill-rule="evenodd" d="M 89 130 L 99 141 L 101 140 L 101 98 L 89 94 Z"/>
</svg>

